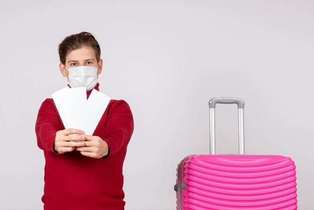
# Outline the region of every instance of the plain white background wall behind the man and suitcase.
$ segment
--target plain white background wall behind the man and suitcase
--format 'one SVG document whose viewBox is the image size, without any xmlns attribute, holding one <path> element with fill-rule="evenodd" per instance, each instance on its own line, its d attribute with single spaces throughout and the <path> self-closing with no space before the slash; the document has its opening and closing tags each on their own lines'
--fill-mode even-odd
<svg viewBox="0 0 314 210">
<path fill-rule="evenodd" d="M 67 81 L 57 47 L 93 32 L 100 90 L 125 99 L 135 130 L 124 164 L 128 210 L 176 208 L 177 164 L 209 153 L 212 97 L 243 98 L 247 154 L 297 167 L 299 209 L 314 209 L 314 1 L 2 1 L 0 208 L 42 209 L 35 121 Z M 237 152 L 236 106 L 217 106 L 217 152 Z"/>
</svg>

